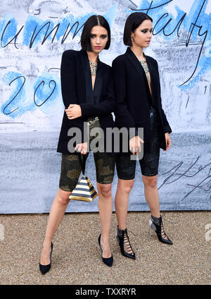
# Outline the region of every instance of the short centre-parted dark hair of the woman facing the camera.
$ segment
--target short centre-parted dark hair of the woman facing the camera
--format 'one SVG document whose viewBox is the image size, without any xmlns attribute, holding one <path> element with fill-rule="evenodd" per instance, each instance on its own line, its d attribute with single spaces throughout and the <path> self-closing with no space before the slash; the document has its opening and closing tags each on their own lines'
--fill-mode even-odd
<svg viewBox="0 0 211 299">
<path fill-rule="evenodd" d="M 90 33 L 91 28 L 94 26 L 102 26 L 105 28 L 108 32 L 108 42 L 106 43 L 106 47 L 104 49 L 108 50 L 110 47 L 110 26 L 103 16 L 91 16 L 87 19 L 87 21 L 84 23 L 84 28 L 82 31 L 81 36 L 81 45 L 82 49 L 85 51 L 91 51 L 91 44 L 90 44 Z"/>
</svg>

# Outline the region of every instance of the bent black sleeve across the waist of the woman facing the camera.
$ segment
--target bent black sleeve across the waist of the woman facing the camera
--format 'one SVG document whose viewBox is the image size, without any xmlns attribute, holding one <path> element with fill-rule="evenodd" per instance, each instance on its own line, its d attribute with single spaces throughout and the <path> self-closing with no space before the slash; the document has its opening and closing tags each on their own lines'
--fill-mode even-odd
<svg viewBox="0 0 211 299">
<path fill-rule="evenodd" d="M 90 103 L 80 103 L 82 109 L 82 117 L 87 116 L 103 116 L 112 113 L 115 110 L 115 95 L 114 95 L 114 87 L 113 87 L 113 77 L 111 73 L 111 68 L 109 67 L 109 71 L 107 73 L 107 94 L 106 99 L 98 104 L 90 104 Z M 105 84 L 105 82 L 103 83 Z M 99 95 L 100 96 L 100 95 Z"/>
</svg>

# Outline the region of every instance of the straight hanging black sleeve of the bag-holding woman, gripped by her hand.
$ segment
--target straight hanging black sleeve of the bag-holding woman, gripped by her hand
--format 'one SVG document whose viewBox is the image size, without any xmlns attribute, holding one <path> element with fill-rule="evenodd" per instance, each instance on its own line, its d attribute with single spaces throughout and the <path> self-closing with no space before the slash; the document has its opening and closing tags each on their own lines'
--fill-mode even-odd
<svg viewBox="0 0 211 299">
<path fill-rule="evenodd" d="M 68 109 L 70 104 L 79 104 L 76 93 L 76 63 L 74 51 L 68 50 L 63 52 L 60 66 L 60 83 L 65 109 Z M 64 116 L 66 121 L 70 122 L 71 127 L 77 127 L 82 132 L 82 142 L 84 142 L 84 123 L 82 117 L 69 119 Z"/>
</svg>

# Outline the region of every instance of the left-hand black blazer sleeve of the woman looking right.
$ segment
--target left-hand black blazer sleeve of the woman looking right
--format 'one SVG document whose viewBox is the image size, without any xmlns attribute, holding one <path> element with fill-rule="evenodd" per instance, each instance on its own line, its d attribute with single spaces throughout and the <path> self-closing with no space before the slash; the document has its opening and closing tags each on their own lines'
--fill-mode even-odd
<svg viewBox="0 0 211 299">
<path fill-rule="evenodd" d="M 129 128 L 135 128 L 135 123 L 127 109 L 127 99 L 126 99 L 126 88 L 127 88 L 127 75 L 124 66 L 124 60 L 121 56 L 117 57 L 112 63 L 113 80 L 115 85 L 115 119 L 116 124 L 119 128 L 125 127 L 127 130 Z M 137 135 L 137 131 L 135 133 Z M 130 135 L 131 136 L 131 135 Z M 132 136 L 133 137 L 133 136 Z"/>
</svg>

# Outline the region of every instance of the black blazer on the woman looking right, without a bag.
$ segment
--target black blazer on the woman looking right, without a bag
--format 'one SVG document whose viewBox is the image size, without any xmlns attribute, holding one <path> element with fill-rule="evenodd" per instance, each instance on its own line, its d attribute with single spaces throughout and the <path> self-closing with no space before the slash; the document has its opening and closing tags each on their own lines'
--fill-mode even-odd
<svg viewBox="0 0 211 299">
<path fill-rule="evenodd" d="M 143 145 L 144 150 L 147 151 L 151 145 L 148 113 L 151 100 L 160 117 L 160 147 L 166 150 L 165 133 L 171 133 L 172 129 L 162 109 L 158 63 L 151 56 L 145 56 L 145 58 L 151 73 L 152 96 L 143 67 L 129 47 L 125 54 L 117 56 L 113 61 L 112 71 L 116 97 L 115 123 L 118 128 L 143 128 Z"/>
</svg>

